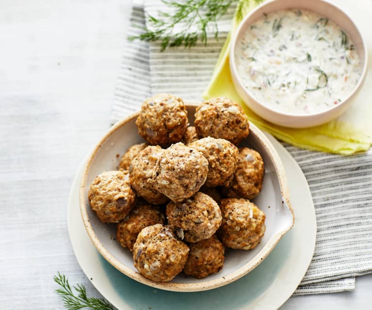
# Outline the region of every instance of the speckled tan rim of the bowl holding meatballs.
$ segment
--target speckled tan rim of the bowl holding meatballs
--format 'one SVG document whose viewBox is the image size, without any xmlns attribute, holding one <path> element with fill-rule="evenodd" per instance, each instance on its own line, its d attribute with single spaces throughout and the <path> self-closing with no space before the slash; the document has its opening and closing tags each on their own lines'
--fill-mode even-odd
<svg viewBox="0 0 372 310">
<path fill-rule="evenodd" d="M 196 108 L 198 104 L 186 104 L 187 107 L 190 108 Z M 256 136 L 262 144 L 262 147 L 266 149 L 266 152 L 271 157 L 271 160 L 274 163 L 276 175 L 279 181 L 280 185 L 280 191 L 282 196 L 283 205 L 285 208 L 288 208 L 291 211 L 292 214 L 292 222 L 291 226 L 284 228 L 283 230 L 276 233 L 269 241 L 268 243 L 259 251 L 259 253 L 253 257 L 250 261 L 248 261 L 246 264 L 244 264 L 239 269 L 235 270 L 229 275 L 226 275 L 224 277 L 219 277 L 214 280 L 206 281 L 206 282 L 200 282 L 200 283 L 174 283 L 174 282 L 155 282 L 150 279 L 147 279 L 146 277 L 142 276 L 138 272 L 129 269 L 126 265 L 118 261 L 116 258 L 113 257 L 113 255 L 100 243 L 99 239 L 97 238 L 94 229 L 90 223 L 89 216 L 88 216 L 88 205 L 85 201 L 85 184 L 87 180 L 87 176 L 90 170 L 90 167 L 96 158 L 97 152 L 102 147 L 102 145 L 106 142 L 106 140 L 117 130 L 119 130 L 121 127 L 132 121 L 133 119 L 137 118 L 139 115 L 139 111 L 129 115 L 128 117 L 122 119 L 121 121 L 117 122 L 113 127 L 107 131 L 104 136 L 100 139 L 96 147 L 94 147 L 93 151 L 91 151 L 90 155 L 87 158 L 87 161 L 85 163 L 85 168 L 83 172 L 83 176 L 81 178 L 80 182 L 80 192 L 79 192 L 79 205 L 80 205 L 80 212 L 81 212 L 81 218 L 84 224 L 84 227 L 89 235 L 89 238 L 92 240 L 93 244 L 96 246 L 98 252 L 105 258 L 106 261 L 108 261 L 113 267 L 115 267 L 117 270 L 125 274 L 126 276 L 142 283 L 146 284 L 148 286 L 167 290 L 167 291 L 174 291 L 174 292 L 199 292 L 199 291 L 206 291 L 210 289 L 214 289 L 220 286 L 224 286 L 228 283 L 231 283 L 240 277 L 243 277 L 247 273 L 249 273 L 251 270 L 253 270 L 255 267 L 259 265 L 261 261 L 263 261 L 270 252 L 274 249 L 275 245 L 280 241 L 280 239 L 293 227 L 294 225 L 294 213 L 291 207 L 291 201 L 289 196 L 289 189 L 287 184 L 287 177 L 285 174 L 283 163 L 281 162 L 279 155 L 277 154 L 274 146 L 271 144 L 269 139 L 263 134 L 262 131 L 260 131 L 255 125 L 252 123 L 249 124 L 250 126 L 250 133 Z"/>
</svg>

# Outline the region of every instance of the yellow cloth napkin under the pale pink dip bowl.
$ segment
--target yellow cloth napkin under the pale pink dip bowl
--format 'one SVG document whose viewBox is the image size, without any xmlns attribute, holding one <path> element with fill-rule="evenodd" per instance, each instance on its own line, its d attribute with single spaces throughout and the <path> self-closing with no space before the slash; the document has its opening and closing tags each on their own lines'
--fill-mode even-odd
<svg viewBox="0 0 372 310">
<path fill-rule="evenodd" d="M 353 1 L 334 1 L 357 21 L 356 25 L 366 41 L 370 59 L 363 88 L 354 99 L 355 102 L 351 107 L 337 119 L 312 128 L 291 129 L 265 121 L 243 103 L 234 88 L 229 67 L 230 38 L 236 32 L 242 19 L 242 16 L 237 14 L 234 16 L 231 33 L 221 50 L 210 84 L 203 93 L 203 98 L 226 96 L 233 99 L 241 104 L 248 119 L 261 130 L 270 132 L 278 139 L 297 147 L 344 155 L 368 150 L 372 144 L 372 32 L 370 32 L 368 22 L 370 18 L 368 12 L 372 12 L 372 1 L 359 1 L 358 6 L 354 5 Z M 245 16 L 255 6 L 252 4 L 245 7 L 243 15 Z"/>
</svg>

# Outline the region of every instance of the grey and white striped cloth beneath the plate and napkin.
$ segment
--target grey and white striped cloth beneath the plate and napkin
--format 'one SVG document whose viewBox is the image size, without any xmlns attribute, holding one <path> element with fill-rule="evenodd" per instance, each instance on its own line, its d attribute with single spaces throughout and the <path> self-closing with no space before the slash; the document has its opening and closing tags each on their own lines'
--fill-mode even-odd
<svg viewBox="0 0 372 310">
<path fill-rule="evenodd" d="M 161 7 L 145 0 L 145 12 Z M 219 40 L 205 47 L 167 49 L 159 44 L 128 42 L 113 104 L 113 122 L 139 110 L 144 98 L 174 93 L 201 100 L 229 27 L 229 12 L 219 24 Z M 144 4 L 135 0 L 129 35 L 145 25 Z M 355 276 L 372 272 L 372 151 L 344 157 L 284 144 L 299 163 L 313 196 L 318 232 L 314 257 L 294 295 L 355 289 Z"/>
</svg>

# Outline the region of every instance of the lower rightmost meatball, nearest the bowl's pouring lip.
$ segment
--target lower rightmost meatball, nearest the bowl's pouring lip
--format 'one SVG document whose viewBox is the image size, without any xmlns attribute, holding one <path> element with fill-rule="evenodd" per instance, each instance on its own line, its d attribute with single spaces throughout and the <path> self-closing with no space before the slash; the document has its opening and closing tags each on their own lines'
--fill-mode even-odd
<svg viewBox="0 0 372 310">
<path fill-rule="evenodd" d="M 255 248 L 265 233 L 265 213 L 249 200 L 227 198 L 221 200 L 222 224 L 218 236 L 233 249 Z"/>
</svg>

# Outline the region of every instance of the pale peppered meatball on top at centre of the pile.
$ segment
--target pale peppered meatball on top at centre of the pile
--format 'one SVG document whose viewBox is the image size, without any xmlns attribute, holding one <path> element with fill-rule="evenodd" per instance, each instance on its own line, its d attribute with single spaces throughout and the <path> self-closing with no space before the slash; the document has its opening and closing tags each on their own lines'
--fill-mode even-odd
<svg viewBox="0 0 372 310">
<path fill-rule="evenodd" d="M 164 150 L 154 173 L 155 188 L 173 201 L 193 196 L 204 184 L 208 161 L 196 149 L 176 143 Z"/>
</svg>

